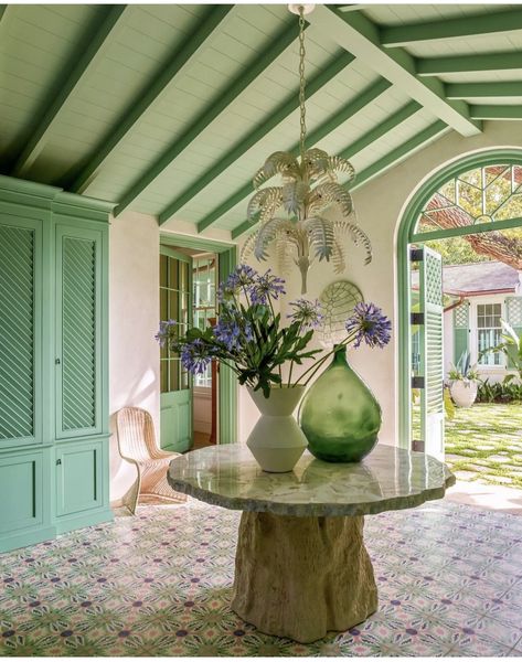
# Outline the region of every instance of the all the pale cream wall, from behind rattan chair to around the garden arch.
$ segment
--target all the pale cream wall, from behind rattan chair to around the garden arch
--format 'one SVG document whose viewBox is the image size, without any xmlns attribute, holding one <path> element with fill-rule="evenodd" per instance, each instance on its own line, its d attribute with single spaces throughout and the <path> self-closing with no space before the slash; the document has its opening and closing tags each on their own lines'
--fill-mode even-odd
<svg viewBox="0 0 522 662">
<path fill-rule="evenodd" d="M 354 193 L 361 226 L 373 244 L 373 261 L 363 265 L 362 252 L 348 245 L 350 266 L 344 275 L 396 320 L 396 231 L 408 197 L 432 172 L 465 153 L 493 147 L 521 147 L 522 131 L 516 122 L 486 122 L 484 132 L 462 138 L 448 134 L 417 152 L 384 175 Z M 191 224 L 172 222 L 175 232 L 196 234 Z M 224 231 L 205 236 L 226 239 Z M 148 408 L 158 429 L 159 393 L 158 346 L 153 340 L 158 325 L 158 245 L 156 220 L 143 214 L 125 213 L 110 227 L 110 412 L 126 404 Z M 256 265 L 258 268 L 259 266 Z M 265 267 L 266 265 L 263 265 Z M 269 265 L 268 265 L 269 266 Z M 262 267 L 262 268 L 263 268 Z M 315 265 L 310 271 L 308 297 L 315 298 L 337 280 L 330 268 Z M 287 281 L 286 302 L 298 296 L 300 282 L 294 273 Z M 285 312 L 286 303 L 283 303 Z M 351 361 L 382 407 L 384 424 L 381 439 L 396 442 L 397 421 L 397 335 L 384 350 L 361 349 L 351 352 Z M 256 409 L 244 389 L 239 394 L 239 438 L 244 440 L 256 419 Z M 113 446 L 116 438 L 113 438 Z M 117 499 L 131 481 L 116 452 L 111 453 L 111 498 Z"/>
</svg>

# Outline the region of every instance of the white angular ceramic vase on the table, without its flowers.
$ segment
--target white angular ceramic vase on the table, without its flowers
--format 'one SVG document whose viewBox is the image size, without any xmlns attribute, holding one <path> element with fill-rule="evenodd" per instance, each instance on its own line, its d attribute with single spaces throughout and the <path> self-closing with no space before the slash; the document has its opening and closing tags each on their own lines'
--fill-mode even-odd
<svg viewBox="0 0 522 662">
<path fill-rule="evenodd" d="M 307 438 L 292 416 L 305 387 L 275 387 L 270 389 L 270 397 L 265 397 L 260 389 L 248 388 L 248 393 L 260 412 L 260 418 L 246 445 L 264 471 L 291 471 L 308 446 Z"/>
</svg>

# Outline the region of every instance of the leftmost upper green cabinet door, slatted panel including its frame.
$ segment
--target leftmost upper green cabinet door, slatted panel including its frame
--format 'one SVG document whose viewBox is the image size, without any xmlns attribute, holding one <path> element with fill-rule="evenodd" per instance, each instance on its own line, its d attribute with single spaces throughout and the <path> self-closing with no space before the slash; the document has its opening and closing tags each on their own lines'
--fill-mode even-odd
<svg viewBox="0 0 522 662">
<path fill-rule="evenodd" d="M 42 225 L 0 216 L 0 450 L 42 444 Z"/>
</svg>

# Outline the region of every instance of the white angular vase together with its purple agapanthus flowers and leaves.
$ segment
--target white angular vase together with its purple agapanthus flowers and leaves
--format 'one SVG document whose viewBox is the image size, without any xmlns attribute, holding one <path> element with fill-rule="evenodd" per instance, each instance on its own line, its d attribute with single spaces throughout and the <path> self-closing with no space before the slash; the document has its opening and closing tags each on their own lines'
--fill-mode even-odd
<svg viewBox="0 0 522 662">
<path fill-rule="evenodd" d="M 291 301 L 291 313 L 284 323 L 274 306 L 284 293 L 285 281 L 270 269 L 260 275 L 248 265 L 239 265 L 220 285 L 216 324 L 204 330 L 192 328 L 180 335 L 175 320 L 163 321 L 156 337 L 180 354 L 190 373 L 204 372 L 216 359 L 247 386 L 262 414 L 247 446 L 262 468 L 274 472 L 291 471 L 307 447 L 292 413 L 308 382 L 333 353 L 316 361 L 323 350 L 308 348 L 322 322 L 319 302 L 302 298 Z M 347 320 L 347 338 L 341 345 L 354 342 L 359 346 L 364 340 L 370 346 L 383 346 L 390 340 L 390 321 L 375 306 L 364 306 Z M 292 381 L 295 366 L 307 359 L 312 365 Z"/>
</svg>

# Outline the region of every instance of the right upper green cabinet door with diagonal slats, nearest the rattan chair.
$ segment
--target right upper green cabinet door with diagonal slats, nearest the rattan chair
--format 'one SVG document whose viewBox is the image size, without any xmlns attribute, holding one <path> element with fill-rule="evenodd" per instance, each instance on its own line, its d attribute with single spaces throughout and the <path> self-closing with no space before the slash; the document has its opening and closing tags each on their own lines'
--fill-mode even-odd
<svg viewBox="0 0 522 662">
<path fill-rule="evenodd" d="M 102 232 L 56 225 L 56 438 L 102 433 Z"/>
</svg>

